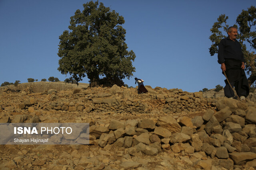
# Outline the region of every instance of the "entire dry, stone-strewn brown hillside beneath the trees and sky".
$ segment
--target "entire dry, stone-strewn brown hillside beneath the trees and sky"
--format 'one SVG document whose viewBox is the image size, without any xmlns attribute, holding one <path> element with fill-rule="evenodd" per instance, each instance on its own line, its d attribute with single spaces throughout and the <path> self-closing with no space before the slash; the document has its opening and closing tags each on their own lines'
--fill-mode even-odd
<svg viewBox="0 0 256 170">
<path fill-rule="evenodd" d="M 0 145 L 0 167 L 256 168 L 256 103 L 146 88 L 2 89 L 1 123 L 90 123 L 90 145 Z"/>
</svg>

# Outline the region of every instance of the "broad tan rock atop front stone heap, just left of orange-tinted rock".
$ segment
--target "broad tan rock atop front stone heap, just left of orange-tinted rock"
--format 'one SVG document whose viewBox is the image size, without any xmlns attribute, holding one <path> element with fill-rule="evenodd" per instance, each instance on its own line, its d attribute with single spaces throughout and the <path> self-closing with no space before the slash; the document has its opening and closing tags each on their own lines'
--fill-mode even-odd
<svg viewBox="0 0 256 170">
<path fill-rule="evenodd" d="M 181 131 L 181 126 L 172 116 L 160 117 L 157 121 L 157 125 L 168 129 L 171 133 L 180 133 Z"/>
</svg>

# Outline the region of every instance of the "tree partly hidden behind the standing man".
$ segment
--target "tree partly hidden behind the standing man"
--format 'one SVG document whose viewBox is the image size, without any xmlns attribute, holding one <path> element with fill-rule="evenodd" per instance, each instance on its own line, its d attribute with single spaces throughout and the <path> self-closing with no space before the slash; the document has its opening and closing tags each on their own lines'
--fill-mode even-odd
<svg viewBox="0 0 256 170">
<path fill-rule="evenodd" d="M 210 55 L 218 53 L 218 44 L 220 40 L 227 36 L 227 30 L 229 25 L 227 24 L 228 16 L 221 14 L 218 21 L 212 26 L 212 35 L 210 40 L 212 45 L 209 48 Z M 236 18 L 236 24 L 232 25 L 238 28 L 237 40 L 242 46 L 245 59 L 245 70 L 250 75 L 248 78 L 249 86 L 251 86 L 256 80 L 256 8 L 251 6 L 248 10 L 242 10 L 241 14 Z M 223 34 L 224 32 L 224 34 Z"/>
</svg>

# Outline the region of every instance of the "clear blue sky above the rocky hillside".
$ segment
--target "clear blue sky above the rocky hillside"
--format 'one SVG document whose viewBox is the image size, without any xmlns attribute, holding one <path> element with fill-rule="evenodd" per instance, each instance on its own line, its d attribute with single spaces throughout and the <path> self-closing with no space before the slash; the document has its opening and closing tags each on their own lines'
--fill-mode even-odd
<svg viewBox="0 0 256 170">
<path fill-rule="evenodd" d="M 58 37 L 86 0 L 0 0 L 0 84 L 69 78 L 58 68 Z M 210 56 L 210 29 L 220 14 L 233 25 L 255 0 L 105 0 L 124 17 L 134 77 L 144 85 L 196 92 L 224 86 L 217 55 Z M 124 79 L 136 86 L 134 77 Z M 83 83 L 88 83 L 84 78 Z"/>
</svg>

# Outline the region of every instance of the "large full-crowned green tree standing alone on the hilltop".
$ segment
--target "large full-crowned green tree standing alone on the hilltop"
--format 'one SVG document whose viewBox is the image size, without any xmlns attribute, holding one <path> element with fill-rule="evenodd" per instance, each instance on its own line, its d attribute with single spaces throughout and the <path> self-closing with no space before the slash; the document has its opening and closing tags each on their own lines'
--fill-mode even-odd
<svg viewBox="0 0 256 170">
<path fill-rule="evenodd" d="M 123 84 L 122 79 L 135 72 L 136 57 L 127 50 L 124 18 L 98 1 L 83 6 L 70 18 L 70 31 L 59 37 L 58 70 L 76 82 L 87 76 L 92 87 L 100 85 L 100 77 L 110 85 Z"/>
</svg>

